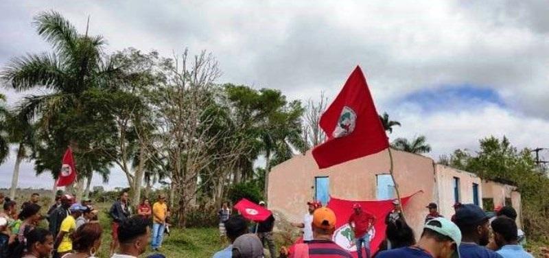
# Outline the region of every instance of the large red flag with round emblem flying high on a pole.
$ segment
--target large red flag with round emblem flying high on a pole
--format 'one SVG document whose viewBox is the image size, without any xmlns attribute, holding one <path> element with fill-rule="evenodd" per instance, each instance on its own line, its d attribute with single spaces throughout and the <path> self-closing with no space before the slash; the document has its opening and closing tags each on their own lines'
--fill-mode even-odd
<svg viewBox="0 0 549 258">
<path fill-rule="evenodd" d="M 366 78 L 358 66 L 319 124 L 327 134 L 327 141 L 312 152 L 320 169 L 389 148 Z"/>
</svg>

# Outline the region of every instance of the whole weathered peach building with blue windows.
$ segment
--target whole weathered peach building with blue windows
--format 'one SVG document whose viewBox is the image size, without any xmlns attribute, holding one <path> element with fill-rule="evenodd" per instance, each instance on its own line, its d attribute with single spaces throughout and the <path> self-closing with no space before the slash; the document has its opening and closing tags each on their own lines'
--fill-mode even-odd
<svg viewBox="0 0 549 258">
<path fill-rule="evenodd" d="M 434 163 L 428 157 L 392 150 L 395 181 L 401 196 L 417 193 L 410 199 L 406 220 L 421 232 L 429 202 L 449 218 L 453 204 L 509 200 L 520 211 L 520 194 L 515 187 L 482 181 L 475 174 Z M 318 169 L 311 152 L 272 167 L 269 175 L 269 207 L 288 219 L 300 221 L 308 200 L 327 202 L 329 196 L 346 200 L 387 200 L 395 198 L 393 180 L 388 174 L 388 151 L 348 161 L 327 169 Z M 509 196 L 510 199 L 506 199 Z"/>
</svg>

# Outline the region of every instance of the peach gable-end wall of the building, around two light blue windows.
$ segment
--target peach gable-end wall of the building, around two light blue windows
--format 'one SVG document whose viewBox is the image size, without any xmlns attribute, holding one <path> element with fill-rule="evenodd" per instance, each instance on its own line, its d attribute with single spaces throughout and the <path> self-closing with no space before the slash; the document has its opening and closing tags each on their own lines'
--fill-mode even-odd
<svg viewBox="0 0 549 258">
<path fill-rule="evenodd" d="M 404 210 L 406 220 L 421 232 L 425 206 L 434 199 L 434 166 L 427 157 L 393 150 L 395 181 L 401 196 L 417 191 Z M 295 156 L 272 168 L 269 175 L 269 208 L 299 222 L 306 212 L 306 202 L 314 197 L 315 176 L 329 176 L 331 196 L 347 200 L 377 200 L 376 175 L 386 174 L 390 162 L 388 151 L 349 161 L 327 169 L 318 169 L 311 152 Z"/>
</svg>

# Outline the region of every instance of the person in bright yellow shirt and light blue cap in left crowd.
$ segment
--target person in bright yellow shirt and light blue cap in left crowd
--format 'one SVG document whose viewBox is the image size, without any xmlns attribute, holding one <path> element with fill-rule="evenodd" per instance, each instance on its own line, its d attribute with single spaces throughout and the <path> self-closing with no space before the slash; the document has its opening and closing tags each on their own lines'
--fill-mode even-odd
<svg viewBox="0 0 549 258">
<path fill-rule="evenodd" d="M 59 233 L 56 237 L 56 244 L 54 245 L 57 248 L 59 257 L 63 257 L 63 255 L 71 253 L 73 250 L 71 234 L 76 230 L 76 220 L 82 216 L 84 209 L 86 208 L 80 203 L 72 204 L 69 208 L 71 215 L 68 215 L 67 218 L 61 222 Z"/>
</svg>

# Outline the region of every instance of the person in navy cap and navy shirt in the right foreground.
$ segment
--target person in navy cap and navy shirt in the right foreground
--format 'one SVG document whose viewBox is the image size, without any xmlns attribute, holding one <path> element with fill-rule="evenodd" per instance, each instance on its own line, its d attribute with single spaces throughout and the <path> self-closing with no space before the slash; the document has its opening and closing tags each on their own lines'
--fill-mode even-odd
<svg viewBox="0 0 549 258">
<path fill-rule="evenodd" d="M 489 216 L 475 204 L 462 204 L 454 217 L 462 242 L 460 254 L 467 258 L 501 258 L 501 255 L 484 247 L 489 243 Z"/>
</svg>

